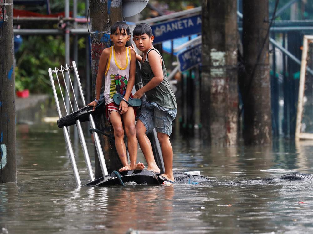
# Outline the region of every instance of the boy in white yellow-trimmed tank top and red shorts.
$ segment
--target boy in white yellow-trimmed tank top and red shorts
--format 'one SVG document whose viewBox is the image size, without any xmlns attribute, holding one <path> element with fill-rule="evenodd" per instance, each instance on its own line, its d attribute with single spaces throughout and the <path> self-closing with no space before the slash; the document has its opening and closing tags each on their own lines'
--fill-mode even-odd
<svg viewBox="0 0 313 234">
<path fill-rule="evenodd" d="M 136 112 L 132 106 L 128 106 L 123 100 L 119 106 L 113 101 L 113 95 L 116 93 L 124 94 L 124 98 L 128 101 L 129 97 L 132 97 L 131 90 L 135 83 L 136 53 L 125 47 L 126 42 L 130 39 L 128 25 L 122 21 L 114 23 L 111 27 L 110 38 L 114 46 L 102 51 L 96 80 L 96 99 L 90 102 L 88 106 L 93 106 L 95 109 L 98 105 L 103 75 L 105 74 L 106 117 L 113 126 L 116 150 L 123 164 L 119 171 L 142 170 L 145 166 L 142 163 L 136 163 L 138 145 L 135 130 Z M 124 143 L 123 123 L 128 139 L 130 165 Z"/>
</svg>

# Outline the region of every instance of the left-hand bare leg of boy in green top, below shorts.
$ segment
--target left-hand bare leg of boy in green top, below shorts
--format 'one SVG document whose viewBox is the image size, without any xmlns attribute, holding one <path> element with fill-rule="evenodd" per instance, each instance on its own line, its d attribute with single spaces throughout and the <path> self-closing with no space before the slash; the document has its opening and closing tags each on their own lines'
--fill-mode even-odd
<svg viewBox="0 0 313 234">
<path fill-rule="evenodd" d="M 152 146 L 149 138 L 146 135 L 146 127 L 141 122 L 141 120 L 137 120 L 136 122 L 136 136 L 139 142 L 139 146 L 143 155 L 146 158 L 148 164 L 148 170 L 160 173 L 160 168 L 157 166 L 156 161 L 153 157 Z M 162 152 L 163 153 L 163 152 Z"/>
</svg>

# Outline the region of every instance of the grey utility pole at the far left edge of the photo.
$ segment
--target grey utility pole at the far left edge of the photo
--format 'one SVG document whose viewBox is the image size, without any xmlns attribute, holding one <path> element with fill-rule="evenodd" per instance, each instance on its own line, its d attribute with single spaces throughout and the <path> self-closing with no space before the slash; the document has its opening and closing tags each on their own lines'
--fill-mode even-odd
<svg viewBox="0 0 313 234">
<path fill-rule="evenodd" d="M 0 0 L 0 183 L 16 181 L 13 3 Z"/>
</svg>

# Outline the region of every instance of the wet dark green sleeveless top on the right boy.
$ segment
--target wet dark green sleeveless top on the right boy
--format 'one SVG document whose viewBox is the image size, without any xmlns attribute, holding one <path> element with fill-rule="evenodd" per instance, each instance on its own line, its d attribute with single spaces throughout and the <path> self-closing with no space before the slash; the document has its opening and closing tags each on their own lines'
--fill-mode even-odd
<svg viewBox="0 0 313 234">
<path fill-rule="evenodd" d="M 155 76 L 152 72 L 151 66 L 148 61 L 148 54 L 151 50 L 155 50 L 159 55 L 159 51 L 157 49 L 150 49 L 147 53 L 146 60 L 142 62 L 141 64 L 141 77 L 142 77 L 142 83 L 145 86 L 146 84 L 151 81 L 151 79 Z M 171 86 L 167 80 L 166 76 L 166 69 L 164 65 L 164 61 L 162 56 L 160 55 L 162 59 L 162 69 L 163 69 L 163 81 L 153 89 L 145 92 L 147 96 L 147 101 L 155 102 L 161 107 L 165 107 L 169 110 L 173 110 L 177 108 L 176 104 L 176 97 L 171 89 Z"/>
</svg>

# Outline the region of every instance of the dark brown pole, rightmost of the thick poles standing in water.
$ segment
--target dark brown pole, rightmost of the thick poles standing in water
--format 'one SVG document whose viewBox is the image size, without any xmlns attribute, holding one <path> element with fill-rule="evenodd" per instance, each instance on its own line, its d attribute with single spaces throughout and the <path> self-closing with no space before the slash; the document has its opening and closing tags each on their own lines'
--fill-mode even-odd
<svg viewBox="0 0 313 234">
<path fill-rule="evenodd" d="M 243 0 L 243 48 L 246 73 L 239 79 L 244 103 L 246 144 L 272 140 L 269 75 L 268 0 Z"/>
</svg>

